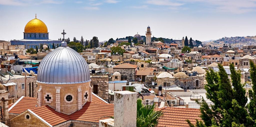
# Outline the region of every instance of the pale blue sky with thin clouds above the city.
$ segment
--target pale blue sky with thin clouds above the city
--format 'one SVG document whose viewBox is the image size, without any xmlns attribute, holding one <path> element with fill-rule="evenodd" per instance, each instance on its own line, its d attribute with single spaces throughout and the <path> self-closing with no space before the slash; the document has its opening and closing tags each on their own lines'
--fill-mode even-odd
<svg viewBox="0 0 256 127">
<path fill-rule="evenodd" d="M 35 18 L 48 27 L 49 39 L 84 40 L 145 35 L 216 40 L 224 36 L 255 36 L 256 0 L 0 0 L 0 40 L 23 39 Z"/>
</svg>

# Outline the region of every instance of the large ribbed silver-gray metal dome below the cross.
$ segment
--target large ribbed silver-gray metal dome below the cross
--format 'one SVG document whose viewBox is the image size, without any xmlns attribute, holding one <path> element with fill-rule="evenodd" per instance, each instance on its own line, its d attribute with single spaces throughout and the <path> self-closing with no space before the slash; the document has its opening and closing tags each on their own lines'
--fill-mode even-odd
<svg viewBox="0 0 256 127">
<path fill-rule="evenodd" d="M 90 70 L 84 58 L 69 47 L 58 47 L 42 59 L 37 82 L 73 84 L 89 82 Z"/>
</svg>

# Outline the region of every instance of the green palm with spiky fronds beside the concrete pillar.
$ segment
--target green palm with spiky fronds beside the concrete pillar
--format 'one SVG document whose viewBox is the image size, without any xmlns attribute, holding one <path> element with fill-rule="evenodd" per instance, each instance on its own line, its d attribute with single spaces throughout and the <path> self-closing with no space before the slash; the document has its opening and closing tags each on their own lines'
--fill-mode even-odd
<svg viewBox="0 0 256 127">
<path fill-rule="evenodd" d="M 163 115 L 161 111 L 155 111 L 155 104 L 146 105 L 142 104 L 141 99 L 137 99 L 137 127 L 155 127 L 157 126 L 158 119 Z"/>
</svg>

